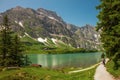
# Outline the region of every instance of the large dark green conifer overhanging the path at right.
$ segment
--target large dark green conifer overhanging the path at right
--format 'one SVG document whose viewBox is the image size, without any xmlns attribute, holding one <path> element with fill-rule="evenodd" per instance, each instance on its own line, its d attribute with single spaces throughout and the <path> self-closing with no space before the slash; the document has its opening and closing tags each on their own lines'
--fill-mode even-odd
<svg viewBox="0 0 120 80">
<path fill-rule="evenodd" d="M 116 68 L 120 59 L 120 0 L 100 0 L 97 29 L 107 57 L 113 59 Z"/>
</svg>

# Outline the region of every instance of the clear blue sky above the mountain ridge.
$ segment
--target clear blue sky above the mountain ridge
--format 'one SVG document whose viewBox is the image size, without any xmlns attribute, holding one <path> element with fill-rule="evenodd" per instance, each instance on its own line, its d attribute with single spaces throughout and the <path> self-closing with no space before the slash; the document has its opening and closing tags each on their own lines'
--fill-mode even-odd
<svg viewBox="0 0 120 80">
<path fill-rule="evenodd" d="M 76 26 L 90 24 L 96 26 L 99 0 L 0 0 L 0 12 L 21 6 L 24 8 L 44 8 L 55 11 L 67 23 Z"/>
</svg>

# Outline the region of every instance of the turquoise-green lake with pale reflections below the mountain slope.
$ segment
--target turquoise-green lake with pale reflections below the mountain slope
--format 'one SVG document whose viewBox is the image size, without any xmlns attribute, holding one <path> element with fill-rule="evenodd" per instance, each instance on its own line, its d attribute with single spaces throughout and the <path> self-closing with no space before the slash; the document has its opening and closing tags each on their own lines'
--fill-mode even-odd
<svg viewBox="0 0 120 80">
<path fill-rule="evenodd" d="M 85 68 L 98 63 L 101 53 L 28 54 L 28 57 L 32 64 L 40 64 L 46 68 Z"/>
</svg>

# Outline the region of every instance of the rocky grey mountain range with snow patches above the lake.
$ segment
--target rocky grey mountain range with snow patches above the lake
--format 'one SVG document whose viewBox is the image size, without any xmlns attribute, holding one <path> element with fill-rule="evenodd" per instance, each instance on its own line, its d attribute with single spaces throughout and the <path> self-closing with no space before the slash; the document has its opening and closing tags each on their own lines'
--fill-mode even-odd
<svg viewBox="0 0 120 80">
<path fill-rule="evenodd" d="M 64 45 L 65 48 L 101 49 L 100 35 L 95 27 L 68 24 L 54 11 L 17 6 L 0 13 L 0 23 L 4 15 L 8 15 L 12 30 L 26 42 L 30 38 L 40 43 L 39 46 L 49 48 L 62 48 Z"/>
</svg>

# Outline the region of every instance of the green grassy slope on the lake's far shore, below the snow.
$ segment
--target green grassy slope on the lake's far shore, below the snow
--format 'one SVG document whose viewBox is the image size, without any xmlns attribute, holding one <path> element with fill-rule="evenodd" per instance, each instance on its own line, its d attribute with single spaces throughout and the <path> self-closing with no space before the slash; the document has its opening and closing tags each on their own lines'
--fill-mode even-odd
<svg viewBox="0 0 120 80">
<path fill-rule="evenodd" d="M 57 42 L 54 44 L 51 39 L 48 38 L 47 43 L 41 43 L 37 40 L 34 40 L 28 36 L 21 38 L 22 43 L 24 43 L 25 53 L 26 54 L 56 54 L 56 53 L 78 53 L 78 52 L 92 52 L 85 49 L 73 48 L 63 42 Z M 93 51 L 95 52 L 95 51 Z"/>
</svg>

